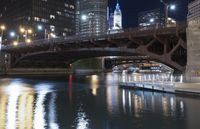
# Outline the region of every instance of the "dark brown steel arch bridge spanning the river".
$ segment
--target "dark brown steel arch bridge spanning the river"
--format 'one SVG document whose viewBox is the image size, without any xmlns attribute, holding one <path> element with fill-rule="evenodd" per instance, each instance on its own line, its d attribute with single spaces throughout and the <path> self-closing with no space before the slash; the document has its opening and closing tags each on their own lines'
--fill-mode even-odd
<svg viewBox="0 0 200 129">
<path fill-rule="evenodd" d="M 2 46 L 2 66 L 9 68 L 66 67 L 73 61 L 103 56 L 146 56 L 175 70 L 186 66 L 186 25 L 129 28 L 100 36 L 71 36 L 17 46 Z"/>
</svg>

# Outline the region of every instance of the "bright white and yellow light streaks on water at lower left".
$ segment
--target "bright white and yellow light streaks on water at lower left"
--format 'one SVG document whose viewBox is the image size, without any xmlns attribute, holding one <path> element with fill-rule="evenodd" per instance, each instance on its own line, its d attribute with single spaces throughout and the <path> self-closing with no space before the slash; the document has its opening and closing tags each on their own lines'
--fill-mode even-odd
<svg viewBox="0 0 200 129">
<path fill-rule="evenodd" d="M 37 88 L 34 89 L 34 86 L 30 87 L 21 80 L 7 80 L 7 82 L 7 85 L 0 87 L 0 128 L 45 129 L 47 122 L 44 102 L 49 92 L 49 85 L 36 85 Z M 38 92 L 38 87 L 43 90 Z M 55 99 L 56 94 L 54 93 L 51 95 L 49 104 L 49 125 L 52 129 L 58 128 Z"/>
</svg>

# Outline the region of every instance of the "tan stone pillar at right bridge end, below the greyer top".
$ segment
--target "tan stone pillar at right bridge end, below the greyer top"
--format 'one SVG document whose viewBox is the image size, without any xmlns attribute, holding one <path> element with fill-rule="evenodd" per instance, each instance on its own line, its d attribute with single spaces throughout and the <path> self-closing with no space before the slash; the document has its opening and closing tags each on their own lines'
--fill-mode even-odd
<svg viewBox="0 0 200 129">
<path fill-rule="evenodd" d="M 188 22 L 186 81 L 200 82 L 200 18 Z"/>
</svg>

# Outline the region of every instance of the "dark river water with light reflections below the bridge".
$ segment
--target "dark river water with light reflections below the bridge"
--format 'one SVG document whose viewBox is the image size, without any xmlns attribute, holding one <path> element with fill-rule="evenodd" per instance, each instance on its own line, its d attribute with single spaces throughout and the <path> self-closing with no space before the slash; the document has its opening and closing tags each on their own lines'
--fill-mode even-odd
<svg viewBox="0 0 200 129">
<path fill-rule="evenodd" d="M 200 98 L 121 89 L 117 79 L 0 79 L 0 129 L 200 129 Z"/>
</svg>

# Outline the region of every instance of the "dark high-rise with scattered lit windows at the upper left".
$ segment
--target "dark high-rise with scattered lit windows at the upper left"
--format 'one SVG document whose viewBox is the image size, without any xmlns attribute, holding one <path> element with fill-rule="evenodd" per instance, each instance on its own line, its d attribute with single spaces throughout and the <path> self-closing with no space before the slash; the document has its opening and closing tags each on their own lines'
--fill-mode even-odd
<svg viewBox="0 0 200 129">
<path fill-rule="evenodd" d="M 47 33 L 56 36 L 75 34 L 75 2 L 74 0 L 1 0 L 0 23 L 7 30 L 20 27 L 32 28 L 34 37 L 44 37 L 41 25 Z M 41 28 L 40 28 L 41 29 Z M 43 29 L 44 31 L 44 29 Z M 43 35 L 43 36 L 42 36 Z"/>
</svg>

